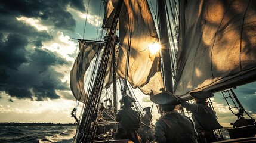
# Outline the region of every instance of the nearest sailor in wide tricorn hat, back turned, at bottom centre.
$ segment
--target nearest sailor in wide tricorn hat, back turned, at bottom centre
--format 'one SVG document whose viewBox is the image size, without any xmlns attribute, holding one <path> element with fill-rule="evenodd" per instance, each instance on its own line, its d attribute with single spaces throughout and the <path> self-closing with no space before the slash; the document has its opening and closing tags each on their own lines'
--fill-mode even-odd
<svg viewBox="0 0 256 143">
<path fill-rule="evenodd" d="M 171 92 L 163 91 L 150 100 L 159 105 L 161 117 L 156 122 L 155 140 L 152 142 L 196 142 L 196 131 L 192 120 L 177 112 L 178 98 Z"/>
</svg>

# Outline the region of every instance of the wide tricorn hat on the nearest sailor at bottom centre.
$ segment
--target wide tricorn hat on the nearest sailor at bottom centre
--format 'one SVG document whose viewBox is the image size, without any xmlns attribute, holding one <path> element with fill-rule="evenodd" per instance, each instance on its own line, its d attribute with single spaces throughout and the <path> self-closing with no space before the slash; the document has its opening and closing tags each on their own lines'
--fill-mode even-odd
<svg viewBox="0 0 256 143">
<path fill-rule="evenodd" d="M 178 105 L 180 104 L 180 100 L 168 91 L 163 91 L 159 94 L 153 95 L 150 100 L 154 102 L 155 104 L 164 105 L 164 104 L 172 104 L 172 105 Z"/>
</svg>

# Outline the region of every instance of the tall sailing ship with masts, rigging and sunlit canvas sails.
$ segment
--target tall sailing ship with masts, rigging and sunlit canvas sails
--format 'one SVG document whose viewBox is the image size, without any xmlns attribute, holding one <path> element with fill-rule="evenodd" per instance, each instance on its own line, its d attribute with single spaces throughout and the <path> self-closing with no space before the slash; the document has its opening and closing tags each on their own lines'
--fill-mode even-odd
<svg viewBox="0 0 256 143">
<path fill-rule="evenodd" d="M 230 138 L 218 130 L 220 138 L 255 141 L 255 120 L 233 88 L 256 81 L 256 1 L 105 0 L 103 6 L 100 36 L 78 39 L 70 73 L 76 107 L 82 104 L 79 117 L 72 111 L 73 142 L 129 142 L 112 137 L 122 99 L 136 99 L 134 89 L 149 96 L 164 89 L 187 101 L 190 92 L 221 91 L 238 120 Z M 134 110 L 143 116 L 139 103 Z M 183 108 L 180 113 L 189 116 Z M 238 124 L 246 114 L 249 123 Z"/>
</svg>

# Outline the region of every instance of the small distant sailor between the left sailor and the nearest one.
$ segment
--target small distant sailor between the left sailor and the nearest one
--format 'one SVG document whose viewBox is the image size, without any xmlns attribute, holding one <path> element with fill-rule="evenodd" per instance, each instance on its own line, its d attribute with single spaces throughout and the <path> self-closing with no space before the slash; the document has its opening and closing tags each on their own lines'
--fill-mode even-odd
<svg viewBox="0 0 256 143">
<path fill-rule="evenodd" d="M 152 114 L 150 113 L 150 107 L 143 108 L 143 111 L 146 111 L 145 115 L 141 117 L 143 124 L 140 128 L 140 135 L 143 143 L 150 142 L 153 140 L 152 133 Z"/>
</svg>

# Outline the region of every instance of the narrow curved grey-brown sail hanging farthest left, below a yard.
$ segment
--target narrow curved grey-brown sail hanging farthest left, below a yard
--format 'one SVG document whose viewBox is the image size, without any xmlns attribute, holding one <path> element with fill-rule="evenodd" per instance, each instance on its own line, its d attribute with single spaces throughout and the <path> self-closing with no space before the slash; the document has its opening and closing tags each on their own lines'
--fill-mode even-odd
<svg viewBox="0 0 256 143">
<path fill-rule="evenodd" d="M 87 94 L 84 89 L 84 76 L 92 59 L 105 46 L 103 43 L 79 41 L 80 52 L 70 72 L 70 88 L 76 100 L 86 103 Z"/>
</svg>

